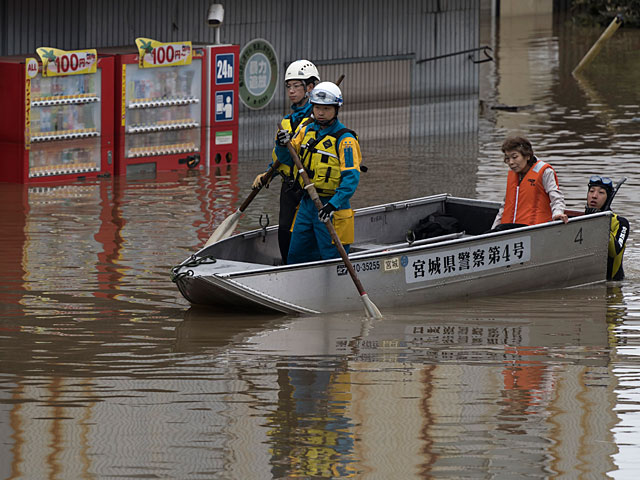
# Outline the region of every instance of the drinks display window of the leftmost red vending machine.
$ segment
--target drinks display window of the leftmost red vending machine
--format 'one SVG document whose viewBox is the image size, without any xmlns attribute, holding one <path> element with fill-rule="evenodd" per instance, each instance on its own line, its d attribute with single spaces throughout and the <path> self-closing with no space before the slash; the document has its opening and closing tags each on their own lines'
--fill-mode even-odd
<svg viewBox="0 0 640 480">
<path fill-rule="evenodd" d="M 101 73 L 33 78 L 29 178 L 100 171 Z"/>
</svg>

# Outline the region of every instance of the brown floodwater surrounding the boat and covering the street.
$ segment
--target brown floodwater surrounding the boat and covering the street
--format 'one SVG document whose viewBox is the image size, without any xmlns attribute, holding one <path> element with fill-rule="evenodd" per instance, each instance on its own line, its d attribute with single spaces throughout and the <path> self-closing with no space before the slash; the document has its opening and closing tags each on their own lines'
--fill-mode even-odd
<svg viewBox="0 0 640 480">
<path fill-rule="evenodd" d="M 355 208 L 501 200 L 522 133 L 569 208 L 627 177 L 623 282 L 282 316 L 190 307 L 169 274 L 249 194 L 240 166 L 0 184 L 0 478 L 616 478 L 640 471 L 640 31 L 485 25 L 477 135 L 367 142 Z M 519 107 L 501 109 L 495 107 Z M 348 99 L 345 102 L 348 109 Z M 278 188 L 239 230 L 277 220 Z M 373 299 L 375 300 L 375 299 Z"/>
</svg>

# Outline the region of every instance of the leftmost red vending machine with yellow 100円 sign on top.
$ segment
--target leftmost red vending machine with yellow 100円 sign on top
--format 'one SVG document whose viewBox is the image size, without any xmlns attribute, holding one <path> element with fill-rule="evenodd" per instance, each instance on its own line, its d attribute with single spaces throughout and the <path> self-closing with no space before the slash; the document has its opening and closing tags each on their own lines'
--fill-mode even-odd
<svg viewBox="0 0 640 480">
<path fill-rule="evenodd" d="M 113 173 L 113 59 L 39 48 L 0 59 L 0 181 L 37 183 Z"/>
</svg>

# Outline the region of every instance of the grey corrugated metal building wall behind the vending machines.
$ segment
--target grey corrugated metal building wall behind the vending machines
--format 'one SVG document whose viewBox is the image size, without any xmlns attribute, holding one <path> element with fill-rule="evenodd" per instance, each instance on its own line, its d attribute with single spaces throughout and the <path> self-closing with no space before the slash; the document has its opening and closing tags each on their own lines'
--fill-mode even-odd
<svg viewBox="0 0 640 480">
<path fill-rule="evenodd" d="M 315 62 L 323 80 L 345 74 L 341 116 L 361 138 L 416 141 L 477 129 L 479 44 L 477 0 L 234 0 L 224 2 L 220 31 L 207 25 L 209 0 L 6 0 L 0 11 L 0 55 L 133 45 L 137 37 L 190 40 L 242 48 L 255 38 L 273 45 L 282 77 L 299 58 Z M 261 110 L 241 105 L 240 149 L 271 145 L 287 112 L 277 88 Z"/>
</svg>

